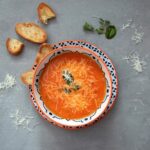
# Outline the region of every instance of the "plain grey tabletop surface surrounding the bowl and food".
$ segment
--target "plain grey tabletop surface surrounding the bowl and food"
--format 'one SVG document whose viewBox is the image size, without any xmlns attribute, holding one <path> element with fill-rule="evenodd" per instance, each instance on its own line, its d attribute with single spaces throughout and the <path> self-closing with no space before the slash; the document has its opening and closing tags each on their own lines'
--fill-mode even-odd
<svg viewBox="0 0 150 150">
<path fill-rule="evenodd" d="M 150 0 L 45 0 L 57 13 L 57 19 L 44 26 L 38 22 L 36 7 L 40 0 L 0 0 L 0 81 L 6 73 L 16 76 L 17 86 L 0 93 L 0 150 L 149 150 L 150 149 Z M 113 40 L 82 31 L 85 21 L 97 24 L 93 16 L 111 20 L 118 29 L 135 19 L 145 32 L 143 43 L 135 45 L 130 30 L 118 31 Z M 49 42 L 84 39 L 101 46 L 113 60 L 119 75 L 119 97 L 113 110 L 101 122 L 78 131 L 66 131 L 44 121 L 33 109 L 27 88 L 19 76 L 33 64 L 37 44 L 18 37 L 15 23 L 35 21 L 45 28 Z M 7 37 L 25 44 L 18 57 L 8 54 Z M 137 74 L 122 60 L 136 50 L 145 57 L 146 69 Z M 148 92 L 149 91 L 149 92 Z M 32 114 L 40 124 L 29 133 L 13 124 L 9 117 L 19 108 Z"/>
</svg>

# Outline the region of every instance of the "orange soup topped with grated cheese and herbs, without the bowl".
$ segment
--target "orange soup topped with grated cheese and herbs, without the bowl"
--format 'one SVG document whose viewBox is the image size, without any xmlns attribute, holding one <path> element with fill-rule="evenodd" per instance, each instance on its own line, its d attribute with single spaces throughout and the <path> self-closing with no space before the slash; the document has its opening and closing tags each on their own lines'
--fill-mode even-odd
<svg viewBox="0 0 150 150">
<path fill-rule="evenodd" d="M 78 52 L 53 58 L 44 68 L 39 86 L 47 108 L 65 119 L 92 114 L 106 93 L 103 71 L 94 60 Z"/>
</svg>

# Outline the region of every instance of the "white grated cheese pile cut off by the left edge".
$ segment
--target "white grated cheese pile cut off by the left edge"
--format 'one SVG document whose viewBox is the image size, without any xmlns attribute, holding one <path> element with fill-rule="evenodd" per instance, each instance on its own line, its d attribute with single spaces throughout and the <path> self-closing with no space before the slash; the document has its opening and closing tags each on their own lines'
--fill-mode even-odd
<svg viewBox="0 0 150 150">
<path fill-rule="evenodd" d="M 6 74 L 3 82 L 0 82 L 0 91 L 8 88 L 12 88 L 16 84 L 15 77 L 10 74 Z"/>
</svg>

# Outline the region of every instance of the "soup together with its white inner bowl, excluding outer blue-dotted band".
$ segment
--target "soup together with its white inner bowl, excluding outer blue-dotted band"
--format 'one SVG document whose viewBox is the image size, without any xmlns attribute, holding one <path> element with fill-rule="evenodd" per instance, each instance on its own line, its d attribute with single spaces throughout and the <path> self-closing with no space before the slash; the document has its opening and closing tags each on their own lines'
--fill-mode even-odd
<svg viewBox="0 0 150 150">
<path fill-rule="evenodd" d="M 49 53 L 35 71 L 35 100 L 46 119 L 79 128 L 98 119 L 111 98 L 111 78 L 92 51 L 66 47 Z"/>
</svg>

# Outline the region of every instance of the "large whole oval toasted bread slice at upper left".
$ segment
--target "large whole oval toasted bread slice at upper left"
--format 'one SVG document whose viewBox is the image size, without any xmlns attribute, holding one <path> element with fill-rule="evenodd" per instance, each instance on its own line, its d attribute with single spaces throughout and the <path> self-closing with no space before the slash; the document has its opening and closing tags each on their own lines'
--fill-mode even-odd
<svg viewBox="0 0 150 150">
<path fill-rule="evenodd" d="M 47 33 L 40 26 L 32 22 L 17 23 L 16 32 L 34 43 L 44 43 L 47 40 Z"/>
</svg>

